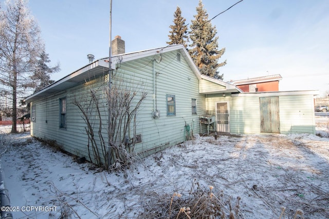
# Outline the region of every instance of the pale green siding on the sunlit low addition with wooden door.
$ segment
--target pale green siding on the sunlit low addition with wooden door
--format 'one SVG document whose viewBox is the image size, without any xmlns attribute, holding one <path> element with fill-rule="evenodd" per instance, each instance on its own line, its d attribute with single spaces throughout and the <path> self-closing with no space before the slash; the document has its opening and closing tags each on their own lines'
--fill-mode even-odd
<svg viewBox="0 0 329 219">
<path fill-rule="evenodd" d="M 302 92 L 301 92 L 302 93 Z M 206 110 L 213 111 L 216 102 L 229 102 L 231 133 L 260 133 L 260 101 L 258 95 L 223 97 L 222 94 L 206 96 Z M 280 133 L 315 134 L 313 94 L 278 94 Z"/>
</svg>

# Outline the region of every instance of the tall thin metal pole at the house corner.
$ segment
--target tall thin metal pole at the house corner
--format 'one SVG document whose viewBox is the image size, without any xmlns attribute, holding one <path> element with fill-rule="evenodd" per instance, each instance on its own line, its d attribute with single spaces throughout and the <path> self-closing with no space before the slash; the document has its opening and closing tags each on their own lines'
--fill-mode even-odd
<svg viewBox="0 0 329 219">
<path fill-rule="evenodd" d="M 112 84 L 112 0 L 109 0 L 109 44 L 108 44 L 108 78 L 107 78 L 107 89 L 108 89 L 108 151 L 107 151 L 107 165 L 111 164 L 111 142 L 112 142 L 112 95 L 111 95 L 111 84 Z"/>
</svg>

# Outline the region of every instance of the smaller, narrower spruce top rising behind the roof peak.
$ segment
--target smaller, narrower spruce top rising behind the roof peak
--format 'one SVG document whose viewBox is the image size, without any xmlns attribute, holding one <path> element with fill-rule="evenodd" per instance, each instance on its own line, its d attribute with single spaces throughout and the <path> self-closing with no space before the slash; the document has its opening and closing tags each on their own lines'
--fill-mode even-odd
<svg viewBox="0 0 329 219">
<path fill-rule="evenodd" d="M 185 24 L 186 19 L 181 16 L 181 10 L 177 6 L 177 9 L 174 13 L 174 25 L 170 25 L 171 34 L 168 35 L 170 42 L 167 42 L 169 45 L 174 44 L 183 44 L 185 48 L 187 48 L 188 36 L 187 34 L 187 25 Z"/>
</svg>

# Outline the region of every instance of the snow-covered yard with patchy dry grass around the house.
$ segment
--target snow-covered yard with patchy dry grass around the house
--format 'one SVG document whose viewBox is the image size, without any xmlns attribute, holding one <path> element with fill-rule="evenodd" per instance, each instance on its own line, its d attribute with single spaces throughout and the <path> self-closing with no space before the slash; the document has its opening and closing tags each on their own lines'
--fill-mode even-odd
<svg viewBox="0 0 329 219">
<path fill-rule="evenodd" d="M 29 133 L 10 134 L 2 168 L 14 218 L 144 218 L 198 185 L 205 194 L 213 187 L 227 217 L 232 206 L 235 218 L 329 218 L 328 124 L 317 117 L 318 136 L 198 136 L 119 173 L 78 164 Z M 164 209 L 159 218 L 168 218 Z"/>
</svg>

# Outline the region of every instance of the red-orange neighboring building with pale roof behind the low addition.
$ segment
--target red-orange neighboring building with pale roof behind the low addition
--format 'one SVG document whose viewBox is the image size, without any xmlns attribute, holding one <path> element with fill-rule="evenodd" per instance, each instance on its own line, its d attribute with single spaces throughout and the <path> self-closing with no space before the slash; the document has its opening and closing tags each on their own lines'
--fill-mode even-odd
<svg viewBox="0 0 329 219">
<path fill-rule="evenodd" d="M 281 79 L 280 74 L 275 74 L 230 81 L 229 84 L 235 85 L 243 92 L 279 91 L 279 81 Z"/>
</svg>

